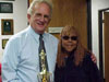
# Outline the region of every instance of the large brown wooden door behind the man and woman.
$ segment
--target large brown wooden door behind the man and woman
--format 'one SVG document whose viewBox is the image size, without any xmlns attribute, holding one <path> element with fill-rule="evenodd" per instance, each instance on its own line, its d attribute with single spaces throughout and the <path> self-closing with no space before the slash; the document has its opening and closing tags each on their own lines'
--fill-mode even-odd
<svg viewBox="0 0 109 82">
<path fill-rule="evenodd" d="M 75 26 L 87 47 L 87 3 L 86 0 L 52 0 L 52 20 L 48 27 Z M 52 34 L 59 37 L 59 34 Z"/>
</svg>

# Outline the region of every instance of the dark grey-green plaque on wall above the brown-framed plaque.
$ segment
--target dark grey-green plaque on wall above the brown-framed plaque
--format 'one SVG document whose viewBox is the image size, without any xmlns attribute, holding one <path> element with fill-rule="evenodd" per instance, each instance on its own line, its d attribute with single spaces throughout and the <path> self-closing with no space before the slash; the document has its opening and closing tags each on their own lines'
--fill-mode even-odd
<svg viewBox="0 0 109 82">
<path fill-rule="evenodd" d="M 0 13 L 13 13 L 13 4 L 11 2 L 0 2 Z"/>
</svg>

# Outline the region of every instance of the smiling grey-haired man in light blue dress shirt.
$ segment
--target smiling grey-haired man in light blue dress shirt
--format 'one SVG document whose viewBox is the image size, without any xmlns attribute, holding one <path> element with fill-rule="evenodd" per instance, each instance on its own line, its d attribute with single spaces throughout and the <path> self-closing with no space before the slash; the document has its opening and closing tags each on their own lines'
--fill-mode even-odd
<svg viewBox="0 0 109 82">
<path fill-rule="evenodd" d="M 46 0 L 35 0 L 27 17 L 29 26 L 8 42 L 2 59 L 2 82 L 38 82 L 39 34 L 43 35 L 49 72 L 53 74 L 58 39 L 45 33 L 51 20 L 52 5 Z"/>
</svg>

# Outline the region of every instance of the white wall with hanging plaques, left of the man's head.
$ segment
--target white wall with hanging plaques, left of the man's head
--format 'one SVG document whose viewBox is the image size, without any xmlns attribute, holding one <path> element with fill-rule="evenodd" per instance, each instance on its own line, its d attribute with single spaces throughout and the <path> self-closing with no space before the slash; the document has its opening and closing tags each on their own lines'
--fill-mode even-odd
<svg viewBox="0 0 109 82">
<path fill-rule="evenodd" d="M 15 0 L 15 1 L 0 1 L 0 2 L 12 2 L 13 13 L 0 13 L 0 62 L 3 54 L 2 39 L 10 38 L 12 35 L 1 35 L 1 19 L 13 19 L 14 22 L 14 34 L 27 27 L 27 0 Z"/>
</svg>

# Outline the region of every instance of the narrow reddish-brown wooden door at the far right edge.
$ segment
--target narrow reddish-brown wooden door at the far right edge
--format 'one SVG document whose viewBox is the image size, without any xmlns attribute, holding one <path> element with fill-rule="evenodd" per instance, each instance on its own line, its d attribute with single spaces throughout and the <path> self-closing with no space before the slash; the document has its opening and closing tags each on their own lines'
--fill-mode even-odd
<svg viewBox="0 0 109 82">
<path fill-rule="evenodd" d="M 109 82 L 109 12 L 105 12 L 105 79 Z"/>
</svg>

